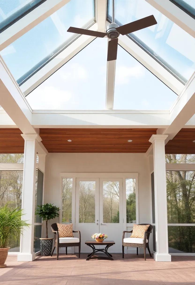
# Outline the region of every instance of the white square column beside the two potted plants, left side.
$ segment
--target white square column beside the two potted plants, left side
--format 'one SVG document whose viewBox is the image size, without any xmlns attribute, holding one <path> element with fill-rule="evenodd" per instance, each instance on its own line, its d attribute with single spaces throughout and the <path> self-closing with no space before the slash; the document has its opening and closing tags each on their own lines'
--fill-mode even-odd
<svg viewBox="0 0 195 285">
<path fill-rule="evenodd" d="M 24 220 L 30 223 L 20 238 L 20 253 L 18 261 L 32 261 L 35 259 L 34 244 L 34 207 L 35 207 L 35 177 L 36 177 L 36 145 L 41 141 L 37 134 L 21 135 L 25 140 L 24 167 L 22 186 L 22 209 Z"/>
</svg>

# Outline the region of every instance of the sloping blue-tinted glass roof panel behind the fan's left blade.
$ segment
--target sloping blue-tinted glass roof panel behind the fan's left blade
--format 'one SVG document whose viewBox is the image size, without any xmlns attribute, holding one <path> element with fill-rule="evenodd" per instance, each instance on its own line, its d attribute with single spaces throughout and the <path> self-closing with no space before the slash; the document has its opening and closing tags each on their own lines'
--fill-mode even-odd
<svg viewBox="0 0 195 285">
<path fill-rule="evenodd" d="M 78 37 L 77 34 L 67 32 L 70 26 L 86 28 L 94 21 L 94 0 L 70 0 L 0 54 L 21 85 Z"/>
</svg>

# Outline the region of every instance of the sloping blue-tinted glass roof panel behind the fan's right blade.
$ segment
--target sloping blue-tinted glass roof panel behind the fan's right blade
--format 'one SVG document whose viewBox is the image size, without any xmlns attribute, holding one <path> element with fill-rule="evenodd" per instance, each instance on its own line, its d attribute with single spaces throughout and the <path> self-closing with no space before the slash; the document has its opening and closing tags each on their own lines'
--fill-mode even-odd
<svg viewBox="0 0 195 285">
<path fill-rule="evenodd" d="M 111 15 L 112 0 L 108 0 L 109 21 Z M 115 0 L 115 22 L 119 26 L 149 15 L 154 15 L 157 25 L 128 36 L 185 84 L 195 70 L 195 38 L 145 0 Z"/>
</svg>

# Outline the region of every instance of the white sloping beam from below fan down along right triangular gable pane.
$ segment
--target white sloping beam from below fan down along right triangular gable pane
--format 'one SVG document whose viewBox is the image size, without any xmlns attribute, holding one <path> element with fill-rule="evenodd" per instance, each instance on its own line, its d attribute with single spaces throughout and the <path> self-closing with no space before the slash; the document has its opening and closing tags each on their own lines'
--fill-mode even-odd
<svg viewBox="0 0 195 285">
<path fill-rule="evenodd" d="M 172 89 L 177 95 L 179 95 L 184 89 L 184 85 L 176 79 L 168 70 L 166 70 L 161 64 L 159 64 L 154 58 L 152 58 L 147 52 L 139 47 L 133 40 L 127 36 L 119 36 L 119 45 L 122 46 L 127 52 L 129 52 L 135 59 L 143 64 L 148 70 L 150 70 L 155 76 L 157 76 L 164 84 Z"/>
</svg>

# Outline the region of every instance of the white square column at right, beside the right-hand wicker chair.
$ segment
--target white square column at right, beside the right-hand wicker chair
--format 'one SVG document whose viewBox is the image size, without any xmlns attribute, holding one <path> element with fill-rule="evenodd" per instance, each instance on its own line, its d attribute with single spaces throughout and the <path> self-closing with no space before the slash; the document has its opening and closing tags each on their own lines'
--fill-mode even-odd
<svg viewBox="0 0 195 285">
<path fill-rule="evenodd" d="M 168 254 L 167 205 L 166 205 L 166 167 L 164 141 L 168 135 L 152 135 L 149 141 L 153 144 L 154 186 L 155 186 L 155 229 L 156 261 L 171 261 Z"/>
</svg>

